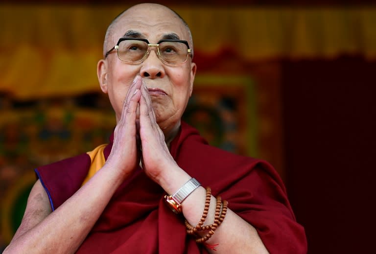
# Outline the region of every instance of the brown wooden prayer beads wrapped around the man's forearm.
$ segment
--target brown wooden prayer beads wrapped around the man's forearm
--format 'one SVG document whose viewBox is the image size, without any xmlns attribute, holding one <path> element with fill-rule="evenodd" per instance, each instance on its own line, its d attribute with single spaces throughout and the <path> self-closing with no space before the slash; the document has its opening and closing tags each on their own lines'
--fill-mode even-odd
<svg viewBox="0 0 376 254">
<path fill-rule="evenodd" d="M 211 236 L 214 234 L 214 231 L 219 227 L 219 225 L 223 222 L 223 219 L 226 216 L 228 202 L 227 202 L 227 200 L 224 200 L 223 205 L 222 205 L 222 198 L 220 196 L 218 196 L 217 199 L 216 199 L 214 223 L 211 224 L 211 225 L 203 226 L 205 219 L 208 215 L 210 200 L 211 200 L 211 188 L 207 187 L 206 188 L 205 208 L 204 208 L 204 212 L 202 214 L 200 221 L 197 223 L 196 227 L 193 227 L 192 225 L 189 224 L 187 219 L 185 220 L 185 224 L 186 224 L 186 227 L 187 227 L 187 233 L 194 235 L 196 237 L 199 237 L 199 238 L 196 239 L 197 243 L 204 243 L 207 240 L 209 240 L 211 238 Z M 222 208 L 222 211 L 221 211 L 221 208 Z M 209 230 L 209 232 L 203 237 L 200 237 L 200 235 L 197 233 L 198 231 L 208 231 L 208 230 Z"/>
</svg>

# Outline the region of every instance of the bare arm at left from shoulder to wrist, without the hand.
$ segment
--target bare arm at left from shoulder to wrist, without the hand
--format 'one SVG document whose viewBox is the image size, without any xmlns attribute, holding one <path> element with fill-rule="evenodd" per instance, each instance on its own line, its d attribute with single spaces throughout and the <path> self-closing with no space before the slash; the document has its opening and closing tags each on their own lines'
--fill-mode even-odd
<svg viewBox="0 0 376 254">
<path fill-rule="evenodd" d="M 4 253 L 74 253 L 119 185 L 116 174 L 104 167 L 92 180 L 54 212 L 37 181 L 21 226 Z M 104 184 L 107 181 L 113 184 Z"/>
</svg>

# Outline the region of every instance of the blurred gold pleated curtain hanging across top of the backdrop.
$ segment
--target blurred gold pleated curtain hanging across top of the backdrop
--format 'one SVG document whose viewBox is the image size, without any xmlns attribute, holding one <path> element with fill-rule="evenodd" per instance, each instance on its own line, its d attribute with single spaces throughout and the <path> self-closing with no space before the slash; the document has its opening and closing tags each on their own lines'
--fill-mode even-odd
<svg viewBox="0 0 376 254">
<path fill-rule="evenodd" d="M 107 25 L 127 6 L 0 5 L 0 92 L 20 99 L 98 91 Z M 182 7 L 195 50 L 278 57 L 376 59 L 376 7 Z"/>
</svg>

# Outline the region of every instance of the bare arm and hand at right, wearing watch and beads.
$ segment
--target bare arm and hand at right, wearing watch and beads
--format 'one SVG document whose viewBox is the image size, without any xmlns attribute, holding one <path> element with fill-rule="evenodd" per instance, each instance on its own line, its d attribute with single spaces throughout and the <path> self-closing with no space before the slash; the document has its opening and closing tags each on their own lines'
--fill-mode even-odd
<svg viewBox="0 0 376 254">
<path fill-rule="evenodd" d="M 171 157 L 164 142 L 164 134 L 156 123 L 151 100 L 144 86 L 140 99 L 140 136 L 142 144 L 142 165 L 146 174 L 161 185 L 167 193 L 174 193 L 190 178 Z M 206 191 L 199 187 L 184 201 L 183 214 L 191 225 L 196 225 L 204 210 Z M 214 221 L 215 198 L 211 197 L 211 206 L 206 219 Z M 256 229 L 241 219 L 230 209 L 226 218 L 207 242 L 219 243 L 212 253 L 268 253 Z"/>
</svg>

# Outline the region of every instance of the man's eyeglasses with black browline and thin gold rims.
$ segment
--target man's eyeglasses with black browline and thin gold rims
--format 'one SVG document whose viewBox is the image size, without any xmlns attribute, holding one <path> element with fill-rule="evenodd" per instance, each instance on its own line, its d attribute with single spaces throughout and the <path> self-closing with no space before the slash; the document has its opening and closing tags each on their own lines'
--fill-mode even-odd
<svg viewBox="0 0 376 254">
<path fill-rule="evenodd" d="M 150 44 L 146 39 L 120 38 L 118 44 L 106 52 L 106 58 L 111 51 L 118 49 L 118 58 L 121 61 L 137 63 L 145 60 L 149 55 L 149 47 L 157 47 L 157 56 L 167 64 L 183 64 L 188 55 L 192 56 L 187 41 L 160 40 L 157 44 Z"/>
</svg>

